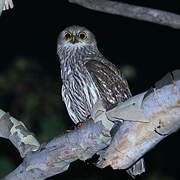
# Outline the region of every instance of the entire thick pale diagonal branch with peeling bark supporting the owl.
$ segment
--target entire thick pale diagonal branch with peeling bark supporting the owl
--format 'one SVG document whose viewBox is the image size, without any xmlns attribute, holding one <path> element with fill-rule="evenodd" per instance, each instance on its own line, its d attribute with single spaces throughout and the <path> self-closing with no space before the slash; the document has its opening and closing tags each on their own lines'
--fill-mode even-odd
<svg viewBox="0 0 180 180">
<path fill-rule="evenodd" d="M 71 162 L 86 160 L 95 153 L 100 154 L 99 167 L 129 168 L 180 128 L 180 70 L 165 76 L 155 87 L 107 112 L 98 102 L 92 113 L 94 120 L 28 153 L 23 163 L 4 179 L 43 180 L 64 172 Z M 112 140 L 110 131 L 115 121 L 123 124 Z M 132 173 L 132 169 L 128 171 Z"/>
</svg>

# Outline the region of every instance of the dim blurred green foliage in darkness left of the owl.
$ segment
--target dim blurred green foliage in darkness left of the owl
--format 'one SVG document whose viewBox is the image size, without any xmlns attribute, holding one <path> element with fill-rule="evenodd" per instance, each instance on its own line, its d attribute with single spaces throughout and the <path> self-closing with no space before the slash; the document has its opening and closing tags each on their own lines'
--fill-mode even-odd
<svg viewBox="0 0 180 180">
<path fill-rule="evenodd" d="M 38 61 L 19 57 L 0 72 L 0 108 L 47 142 L 67 128 L 60 89 Z"/>
</svg>

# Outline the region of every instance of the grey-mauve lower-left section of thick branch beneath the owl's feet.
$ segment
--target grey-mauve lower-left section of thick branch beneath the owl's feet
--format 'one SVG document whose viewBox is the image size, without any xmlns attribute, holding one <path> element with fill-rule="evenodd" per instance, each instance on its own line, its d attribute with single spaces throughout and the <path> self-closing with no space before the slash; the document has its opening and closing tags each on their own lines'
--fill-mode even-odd
<svg viewBox="0 0 180 180">
<path fill-rule="evenodd" d="M 42 180 L 68 169 L 77 159 L 86 160 L 111 141 L 101 122 L 89 120 L 79 129 L 53 139 L 40 151 L 28 155 L 6 180 Z"/>
</svg>

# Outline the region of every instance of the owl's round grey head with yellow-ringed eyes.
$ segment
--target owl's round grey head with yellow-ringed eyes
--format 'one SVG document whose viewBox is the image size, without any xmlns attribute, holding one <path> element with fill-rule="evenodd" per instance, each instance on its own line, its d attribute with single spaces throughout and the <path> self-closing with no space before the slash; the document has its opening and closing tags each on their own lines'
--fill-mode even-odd
<svg viewBox="0 0 180 180">
<path fill-rule="evenodd" d="M 58 37 L 58 49 L 76 49 L 84 46 L 96 47 L 94 34 L 85 27 L 77 25 L 67 27 Z"/>
</svg>

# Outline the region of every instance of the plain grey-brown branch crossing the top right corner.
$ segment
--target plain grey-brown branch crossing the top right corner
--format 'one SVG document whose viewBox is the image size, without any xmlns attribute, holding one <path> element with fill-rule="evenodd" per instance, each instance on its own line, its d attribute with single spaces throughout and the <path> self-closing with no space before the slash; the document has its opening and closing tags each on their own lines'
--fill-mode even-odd
<svg viewBox="0 0 180 180">
<path fill-rule="evenodd" d="M 109 14 L 125 16 L 180 29 L 180 15 L 109 0 L 68 0 L 80 6 Z"/>
</svg>

